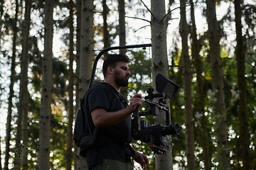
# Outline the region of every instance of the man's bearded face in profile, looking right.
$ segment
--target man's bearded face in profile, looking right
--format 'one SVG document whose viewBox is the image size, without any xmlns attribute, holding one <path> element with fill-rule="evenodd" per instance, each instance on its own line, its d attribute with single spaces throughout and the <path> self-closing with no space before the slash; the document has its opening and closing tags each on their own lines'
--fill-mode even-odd
<svg viewBox="0 0 256 170">
<path fill-rule="evenodd" d="M 129 71 L 127 62 L 117 62 L 114 68 L 114 80 L 118 86 L 128 86 L 130 74 L 131 72 Z"/>
</svg>

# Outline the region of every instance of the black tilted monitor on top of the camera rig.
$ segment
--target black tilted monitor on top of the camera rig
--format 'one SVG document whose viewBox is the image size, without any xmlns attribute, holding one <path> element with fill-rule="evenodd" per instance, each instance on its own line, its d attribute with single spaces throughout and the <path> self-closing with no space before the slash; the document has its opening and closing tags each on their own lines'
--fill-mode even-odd
<svg viewBox="0 0 256 170">
<path fill-rule="evenodd" d="M 167 98 L 171 99 L 178 88 L 179 86 L 174 83 L 174 81 L 171 81 L 160 73 L 156 75 L 156 91 L 159 93 L 168 94 Z"/>
</svg>

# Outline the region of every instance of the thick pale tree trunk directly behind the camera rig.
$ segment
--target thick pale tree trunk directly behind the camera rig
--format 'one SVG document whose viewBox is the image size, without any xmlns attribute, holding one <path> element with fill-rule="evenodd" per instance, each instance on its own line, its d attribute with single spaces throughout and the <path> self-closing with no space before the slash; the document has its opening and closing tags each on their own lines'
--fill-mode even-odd
<svg viewBox="0 0 256 170">
<path fill-rule="evenodd" d="M 151 0 L 151 42 L 152 42 L 152 77 L 155 84 L 155 77 L 161 73 L 168 77 L 168 60 L 166 47 L 166 17 L 165 1 Z M 166 124 L 164 114 L 156 118 L 157 124 Z M 171 136 L 169 149 L 166 154 L 157 154 L 155 158 L 156 170 L 173 169 Z"/>
</svg>

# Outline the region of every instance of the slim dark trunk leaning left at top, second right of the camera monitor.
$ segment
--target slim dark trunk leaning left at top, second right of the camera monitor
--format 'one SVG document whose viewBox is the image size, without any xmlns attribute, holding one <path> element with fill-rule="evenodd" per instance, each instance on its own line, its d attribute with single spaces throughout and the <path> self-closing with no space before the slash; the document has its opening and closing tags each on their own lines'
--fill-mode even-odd
<svg viewBox="0 0 256 170">
<path fill-rule="evenodd" d="M 201 142 L 203 148 L 203 162 L 204 169 L 210 170 L 211 167 L 211 154 L 210 154 L 210 146 L 212 145 L 209 139 L 209 131 L 206 128 L 207 120 L 205 116 L 205 96 L 203 92 L 203 62 L 199 55 L 199 44 L 196 34 L 196 21 L 195 21 L 195 13 L 194 13 L 194 5 L 193 0 L 190 0 L 191 4 L 191 52 L 193 57 L 193 62 L 196 68 L 196 83 L 197 83 L 197 97 L 196 97 L 196 110 L 198 114 L 201 116 L 200 119 L 200 135 Z"/>
</svg>

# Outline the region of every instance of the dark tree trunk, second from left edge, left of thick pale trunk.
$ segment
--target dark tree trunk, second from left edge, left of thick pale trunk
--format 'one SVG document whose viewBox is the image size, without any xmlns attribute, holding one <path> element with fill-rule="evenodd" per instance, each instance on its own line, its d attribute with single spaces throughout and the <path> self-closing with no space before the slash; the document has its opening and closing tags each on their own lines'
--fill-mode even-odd
<svg viewBox="0 0 256 170">
<path fill-rule="evenodd" d="M 21 57 L 21 84 L 19 95 L 19 111 L 18 114 L 22 117 L 21 130 L 23 147 L 28 146 L 28 42 L 29 29 L 31 22 L 31 0 L 26 0 L 25 20 L 23 22 L 23 43 Z M 20 116 L 19 116 L 20 117 Z M 28 152 L 27 149 L 22 150 L 22 166 L 23 170 L 28 169 Z"/>
</svg>

